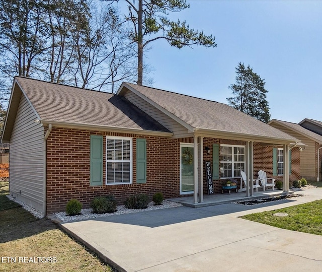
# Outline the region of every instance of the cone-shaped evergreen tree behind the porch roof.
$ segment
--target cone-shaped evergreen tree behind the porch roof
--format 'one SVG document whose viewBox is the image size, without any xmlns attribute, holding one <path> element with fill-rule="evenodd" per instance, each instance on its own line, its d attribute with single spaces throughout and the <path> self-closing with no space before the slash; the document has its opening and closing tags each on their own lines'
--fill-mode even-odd
<svg viewBox="0 0 322 272">
<path fill-rule="evenodd" d="M 250 65 L 245 67 L 239 62 L 236 67 L 236 83 L 231 84 L 233 97 L 227 98 L 228 104 L 262 122 L 268 123 L 271 115 L 269 104 L 266 100 L 268 91 L 265 82 L 253 72 Z"/>
</svg>

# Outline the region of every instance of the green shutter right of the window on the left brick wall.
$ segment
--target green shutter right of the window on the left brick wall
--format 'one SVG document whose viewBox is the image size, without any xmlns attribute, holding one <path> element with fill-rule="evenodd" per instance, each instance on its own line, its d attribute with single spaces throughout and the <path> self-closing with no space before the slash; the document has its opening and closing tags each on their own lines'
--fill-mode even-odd
<svg viewBox="0 0 322 272">
<path fill-rule="evenodd" d="M 136 183 L 146 183 L 146 140 L 136 139 Z"/>
</svg>

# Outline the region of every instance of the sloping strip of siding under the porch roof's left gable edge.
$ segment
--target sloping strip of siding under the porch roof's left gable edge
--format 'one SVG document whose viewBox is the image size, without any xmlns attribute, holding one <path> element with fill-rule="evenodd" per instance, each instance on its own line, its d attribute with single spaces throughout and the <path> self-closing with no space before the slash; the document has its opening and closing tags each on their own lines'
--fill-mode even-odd
<svg viewBox="0 0 322 272">
<path fill-rule="evenodd" d="M 180 137 L 180 134 L 188 133 L 188 129 L 186 127 L 176 122 L 171 117 L 158 110 L 133 92 L 127 91 L 124 94 L 124 97 L 139 109 L 150 115 L 164 127 L 168 128 L 171 132 L 174 133 L 174 137 Z"/>
</svg>

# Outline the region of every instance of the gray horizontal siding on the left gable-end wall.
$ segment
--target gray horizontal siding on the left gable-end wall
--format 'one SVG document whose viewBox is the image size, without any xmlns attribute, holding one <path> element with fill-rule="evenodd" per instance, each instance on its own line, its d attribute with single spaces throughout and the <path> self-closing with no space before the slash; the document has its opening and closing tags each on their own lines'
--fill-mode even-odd
<svg viewBox="0 0 322 272">
<path fill-rule="evenodd" d="M 44 213 L 44 128 L 24 95 L 10 139 L 10 194 Z"/>
</svg>

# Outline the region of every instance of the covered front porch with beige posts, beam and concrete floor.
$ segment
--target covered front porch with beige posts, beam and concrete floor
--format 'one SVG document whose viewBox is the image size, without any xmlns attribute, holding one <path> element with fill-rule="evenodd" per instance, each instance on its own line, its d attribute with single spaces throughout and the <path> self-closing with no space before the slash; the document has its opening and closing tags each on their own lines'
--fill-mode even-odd
<svg viewBox="0 0 322 272">
<path fill-rule="evenodd" d="M 204 195 L 204 185 L 208 186 L 208 182 L 205 183 L 205 179 L 206 177 L 204 177 L 204 170 L 205 170 L 205 166 L 204 166 L 204 162 L 207 161 L 205 160 L 204 156 L 206 156 L 207 154 L 211 154 L 211 152 L 209 152 L 209 148 L 207 146 L 205 146 L 204 144 L 204 139 L 206 137 L 209 138 L 209 136 L 212 136 L 211 138 L 214 139 L 214 135 L 198 135 L 197 133 L 195 133 L 194 137 L 193 137 L 193 147 L 194 147 L 194 160 L 193 160 L 193 166 L 194 166 L 194 171 L 193 171 L 193 180 L 194 180 L 194 184 L 193 184 L 193 196 L 190 197 L 184 197 L 185 200 L 182 200 L 181 198 L 183 197 L 179 197 L 176 198 L 176 201 L 183 203 L 183 205 L 186 206 L 190 206 L 190 207 L 204 207 L 204 206 L 209 206 L 209 205 L 216 205 L 216 203 L 226 203 L 226 202 L 231 202 L 234 201 L 236 199 L 250 199 L 252 197 L 257 197 L 257 198 L 261 198 L 261 197 L 268 197 L 270 196 L 270 194 L 281 194 L 281 193 L 288 193 L 289 192 L 289 172 L 290 172 L 290 164 L 289 163 L 284 163 L 283 164 L 283 175 L 281 176 L 281 178 L 283 179 L 283 191 L 281 190 L 268 190 L 268 191 L 264 191 L 263 189 L 259 189 L 258 192 L 255 191 L 254 188 L 254 181 L 256 179 L 258 179 L 258 176 L 256 175 L 258 170 L 262 170 L 263 166 L 258 166 L 260 167 L 259 169 L 257 169 L 255 171 L 254 169 L 254 163 L 256 162 L 256 160 L 258 160 L 259 155 L 263 156 L 263 154 L 259 154 L 257 152 L 256 157 L 254 156 L 254 144 L 255 141 L 254 139 L 247 139 L 247 138 L 237 138 L 238 141 L 243 141 L 244 145 L 243 148 L 245 148 L 245 153 L 243 155 L 243 157 L 245 158 L 244 160 L 242 160 L 242 164 L 244 165 L 243 171 L 246 173 L 246 192 L 240 192 L 240 193 L 231 193 L 230 195 L 228 195 L 227 193 L 225 194 L 210 194 L 210 195 Z M 219 138 L 217 136 L 217 138 Z M 222 138 L 221 138 L 222 139 Z M 236 137 L 229 137 L 228 135 L 226 135 L 225 139 L 230 139 L 230 140 L 235 140 Z M 295 146 L 297 146 L 298 143 L 289 143 L 288 140 L 272 140 L 272 139 L 256 139 L 257 143 L 259 145 L 261 145 L 262 147 L 265 146 L 279 146 L 281 147 L 280 149 L 283 150 L 283 154 L 284 154 L 284 161 L 285 162 L 289 162 L 290 161 L 290 156 L 289 156 L 289 152 L 291 149 L 293 149 Z M 260 141 L 258 141 L 260 140 Z M 220 146 L 220 145 L 218 145 Z M 207 151 L 207 153 L 206 153 Z M 214 148 L 212 149 L 213 153 L 218 153 L 217 155 L 219 156 L 220 151 L 219 150 L 214 150 Z M 264 155 L 265 156 L 265 155 Z M 209 157 L 208 157 L 209 158 Z M 232 163 L 231 161 L 229 161 L 229 163 Z M 258 164 L 258 163 L 257 163 Z M 271 164 L 270 164 L 271 165 Z M 267 168 L 267 165 L 266 165 Z M 210 168 L 209 168 L 210 170 Z M 213 171 L 211 171 L 213 170 Z M 207 178 L 210 180 L 221 180 L 223 178 L 221 169 L 220 169 L 220 160 L 217 161 L 217 163 L 215 163 L 215 161 L 212 162 L 212 169 L 210 171 L 206 171 L 206 176 L 208 176 L 208 174 L 210 172 L 213 173 L 212 177 Z M 215 172 L 217 171 L 217 174 L 215 174 Z M 238 171 L 238 170 L 237 170 Z M 255 173 L 256 172 L 256 173 Z M 237 174 L 238 175 L 238 174 Z M 216 176 L 216 178 L 214 178 L 214 176 Z M 236 174 L 235 174 L 236 177 Z M 238 176 L 237 176 L 238 177 Z M 229 176 L 224 177 L 224 178 L 230 178 Z M 211 182 L 210 182 L 211 183 Z M 261 184 L 261 183 L 259 183 Z M 239 187 L 238 187 L 239 189 Z M 208 190 L 209 192 L 209 190 Z M 181 199 L 181 200 L 180 200 Z"/>
</svg>

